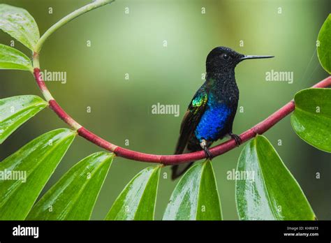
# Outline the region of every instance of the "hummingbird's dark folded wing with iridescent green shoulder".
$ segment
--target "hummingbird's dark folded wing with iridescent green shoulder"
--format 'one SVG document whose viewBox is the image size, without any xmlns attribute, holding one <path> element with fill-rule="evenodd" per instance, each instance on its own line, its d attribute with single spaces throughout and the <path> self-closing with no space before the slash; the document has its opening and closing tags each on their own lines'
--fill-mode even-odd
<svg viewBox="0 0 331 243">
<path fill-rule="evenodd" d="M 196 130 L 196 126 L 198 126 L 199 121 L 205 112 L 207 101 L 208 96 L 207 92 L 205 91 L 205 87 L 201 87 L 196 92 L 196 95 L 193 97 L 191 103 L 189 104 L 189 108 L 186 110 L 184 115 L 182 124 L 180 126 L 175 154 L 182 154 L 184 152 L 191 134 L 194 130 Z"/>
</svg>

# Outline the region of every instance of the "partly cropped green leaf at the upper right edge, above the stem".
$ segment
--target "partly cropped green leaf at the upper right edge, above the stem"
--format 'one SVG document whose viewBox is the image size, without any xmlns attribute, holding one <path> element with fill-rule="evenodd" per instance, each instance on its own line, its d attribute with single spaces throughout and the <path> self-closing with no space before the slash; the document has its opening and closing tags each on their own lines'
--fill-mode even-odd
<svg viewBox="0 0 331 243">
<path fill-rule="evenodd" d="M 318 33 L 317 55 L 320 60 L 321 66 L 331 73 L 331 15 L 329 14 L 324 24 L 321 27 L 320 33 Z"/>
</svg>

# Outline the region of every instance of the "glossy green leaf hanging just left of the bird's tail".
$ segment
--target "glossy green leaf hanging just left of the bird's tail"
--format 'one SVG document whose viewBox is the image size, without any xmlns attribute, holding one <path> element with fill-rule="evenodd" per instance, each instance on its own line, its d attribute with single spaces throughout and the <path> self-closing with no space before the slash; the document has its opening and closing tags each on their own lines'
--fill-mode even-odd
<svg viewBox="0 0 331 243">
<path fill-rule="evenodd" d="M 161 167 L 145 168 L 128 182 L 106 220 L 153 220 Z"/>
</svg>

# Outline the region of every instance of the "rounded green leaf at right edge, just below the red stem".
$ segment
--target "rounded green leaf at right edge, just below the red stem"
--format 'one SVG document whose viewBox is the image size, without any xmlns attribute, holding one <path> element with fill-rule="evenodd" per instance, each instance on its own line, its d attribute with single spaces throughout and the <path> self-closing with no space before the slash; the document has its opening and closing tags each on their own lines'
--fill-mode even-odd
<svg viewBox="0 0 331 243">
<path fill-rule="evenodd" d="M 331 89 L 303 89 L 294 97 L 292 127 L 305 142 L 331 152 Z"/>
</svg>

